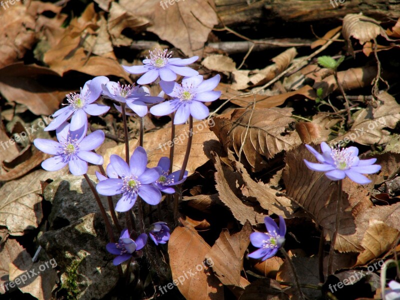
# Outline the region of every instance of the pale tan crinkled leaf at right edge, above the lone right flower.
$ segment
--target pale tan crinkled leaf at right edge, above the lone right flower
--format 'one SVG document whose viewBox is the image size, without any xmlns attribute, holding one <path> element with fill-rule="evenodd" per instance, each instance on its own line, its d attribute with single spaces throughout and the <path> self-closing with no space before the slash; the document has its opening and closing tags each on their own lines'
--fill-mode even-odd
<svg viewBox="0 0 400 300">
<path fill-rule="evenodd" d="M 331 143 L 355 141 L 363 145 L 382 144 L 390 140 L 390 132 L 384 127 L 394 128 L 400 120 L 400 105 L 387 92 L 378 95 L 382 104 L 377 108 L 368 106 L 354 113 L 350 130 L 333 139 Z"/>
</svg>

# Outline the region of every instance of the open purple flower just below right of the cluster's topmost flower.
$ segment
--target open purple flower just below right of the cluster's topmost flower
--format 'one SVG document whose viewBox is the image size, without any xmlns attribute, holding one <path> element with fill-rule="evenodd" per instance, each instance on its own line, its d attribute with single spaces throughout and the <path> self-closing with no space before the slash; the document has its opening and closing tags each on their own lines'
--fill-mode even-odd
<svg viewBox="0 0 400 300">
<path fill-rule="evenodd" d="M 214 101 L 221 95 L 220 91 L 212 90 L 219 83 L 220 76 L 204 80 L 203 76 L 184 77 L 182 84 L 175 81 L 160 81 L 162 90 L 173 99 L 154 105 L 150 112 L 154 115 L 167 115 L 176 111 L 174 124 L 184 123 L 191 114 L 196 119 L 208 116 L 208 107 L 202 102 Z"/>
</svg>

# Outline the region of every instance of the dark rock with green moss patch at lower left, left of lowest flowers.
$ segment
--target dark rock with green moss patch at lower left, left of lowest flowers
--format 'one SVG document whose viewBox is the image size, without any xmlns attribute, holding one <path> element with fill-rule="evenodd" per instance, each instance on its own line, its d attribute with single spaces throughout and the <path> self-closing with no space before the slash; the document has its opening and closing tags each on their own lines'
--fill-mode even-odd
<svg viewBox="0 0 400 300">
<path fill-rule="evenodd" d="M 117 284 L 114 255 L 105 249 L 108 242 L 100 213 L 87 214 L 68 226 L 46 231 L 39 238 L 47 255 L 57 261 L 62 285 L 81 300 L 102 299 Z"/>
</svg>

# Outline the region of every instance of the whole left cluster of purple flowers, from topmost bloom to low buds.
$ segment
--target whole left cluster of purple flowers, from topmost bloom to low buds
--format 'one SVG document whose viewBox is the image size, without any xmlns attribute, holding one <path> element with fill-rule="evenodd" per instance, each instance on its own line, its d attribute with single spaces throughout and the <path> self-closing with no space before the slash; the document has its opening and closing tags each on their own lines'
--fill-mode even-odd
<svg viewBox="0 0 400 300">
<path fill-rule="evenodd" d="M 94 77 L 85 82 L 79 93 L 66 95 L 68 104 L 53 113 L 55 118 L 44 129 L 55 130 L 58 142 L 41 138 L 33 141 L 39 150 L 54 155 L 44 160 L 41 166 L 45 170 L 55 171 L 68 165 L 72 174 L 83 175 L 87 172 L 88 162 L 103 164 L 103 157 L 93 150 L 104 141 L 104 133 L 96 130 L 86 135 L 87 114 L 100 115 L 110 108 L 95 102 L 100 96 L 112 99 L 119 112 L 128 107 L 139 117 L 146 115 L 148 105 L 155 104 L 150 107 L 150 112 L 157 116 L 174 112 L 174 124 L 186 122 L 189 115 L 197 119 L 207 117 L 209 111 L 203 102 L 219 98 L 220 92 L 213 89 L 218 85 L 220 76 L 203 80 L 203 76 L 196 70 L 186 66 L 197 59 L 197 56 L 187 59 L 171 58 L 171 52 L 156 49 L 150 51 L 150 58 L 146 57 L 143 65 L 123 66 L 130 73 L 144 73 L 137 80 L 138 84 L 160 80 L 162 92 L 157 96 L 151 96 L 144 86 L 121 85 L 105 76 Z M 174 81 L 177 75 L 184 76 L 181 84 Z M 169 96 L 169 100 L 164 101 L 164 93 Z M 124 112 L 133 115 L 132 112 Z M 113 154 L 106 167 L 106 176 L 96 172 L 99 180 L 96 190 L 107 196 L 120 194 L 115 206 L 115 210 L 119 212 L 130 210 L 137 196 L 148 204 L 156 205 L 161 200 L 161 192 L 174 193 L 173 186 L 187 177 L 187 171 L 184 171 L 182 179 L 178 180 L 181 170 L 170 172 L 169 164 L 168 157 L 161 157 L 156 167 L 148 168 L 147 154 L 141 146 L 136 147 L 128 163 Z M 165 222 L 153 223 L 147 232 L 155 244 L 165 243 L 169 238 L 169 228 Z M 107 250 L 118 255 L 114 259 L 115 265 L 139 255 L 140 249 L 145 245 L 145 233 L 138 235 L 135 240 L 130 238 L 131 234 L 132 232 L 124 229 L 118 242 L 107 244 Z"/>
</svg>

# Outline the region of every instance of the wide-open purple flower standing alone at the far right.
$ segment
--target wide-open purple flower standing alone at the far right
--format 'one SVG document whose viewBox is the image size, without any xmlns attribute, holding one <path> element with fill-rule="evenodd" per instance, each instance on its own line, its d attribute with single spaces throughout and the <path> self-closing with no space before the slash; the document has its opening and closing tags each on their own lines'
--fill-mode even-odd
<svg viewBox="0 0 400 300">
<path fill-rule="evenodd" d="M 322 154 L 319 154 L 310 145 L 305 145 L 307 149 L 321 163 L 309 162 L 304 159 L 305 165 L 313 171 L 325 172 L 330 180 L 340 180 L 345 176 L 359 184 L 371 182 L 361 174 L 373 174 L 380 170 L 380 165 L 373 164 L 376 158 L 359 159 L 356 147 L 330 148 L 326 142 L 321 142 Z"/>
</svg>

